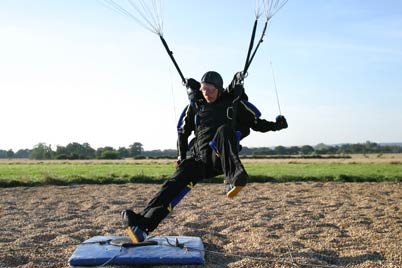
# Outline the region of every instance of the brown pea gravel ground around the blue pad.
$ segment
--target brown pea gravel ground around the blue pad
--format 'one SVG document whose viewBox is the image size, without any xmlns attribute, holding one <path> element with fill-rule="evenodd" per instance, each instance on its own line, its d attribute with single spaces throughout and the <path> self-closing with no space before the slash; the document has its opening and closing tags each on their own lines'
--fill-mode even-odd
<svg viewBox="0 0 402 268">
<path fill-rule="evenodd" d="M 1 188 L 0 267 L 68 267 L 82 241 L 126 235 L 120 211 L 159 187 Z M 198 267 L 402 267 L 401 209 L 400 183 L 249 184 L 234 200 L 199 184 L 153 235 L 201 237 Z"/>
</svg>

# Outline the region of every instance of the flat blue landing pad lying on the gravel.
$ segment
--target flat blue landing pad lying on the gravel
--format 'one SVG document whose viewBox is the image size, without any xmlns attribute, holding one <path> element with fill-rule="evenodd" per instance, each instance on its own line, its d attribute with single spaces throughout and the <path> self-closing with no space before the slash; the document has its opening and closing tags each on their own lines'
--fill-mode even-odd
<svg viewBox="0 0 402 268">
<path fill-rule="evenodd" d="M 203 264 L 204 245 L 192 236 L 154 236 L 143 245 L 128 236 L 95 236 L 82 242 L 68 260 L 70 266 Z"/>
</svg>

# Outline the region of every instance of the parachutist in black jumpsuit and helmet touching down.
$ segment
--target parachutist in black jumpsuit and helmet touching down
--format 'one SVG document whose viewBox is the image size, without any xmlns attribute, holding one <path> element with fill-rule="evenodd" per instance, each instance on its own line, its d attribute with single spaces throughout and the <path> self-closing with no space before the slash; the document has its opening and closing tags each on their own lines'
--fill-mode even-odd
<svg viewBox="0 0 402 268">
<path fill-rule="evenodd" d="M 285 117 L 278 116 L 276 122 L 260 119 L 257 108 L 244 99 L 238 101 L 235 111 L 236 96 L 224 90 L 222 77 L 217 72 L 205 73 L 201 83 L 194 79 L 188 82 L 190 104 L 177 126 L 179 161 L 175 173 L 140 214 L 132 210 L 122 212 L 123 224 L 133 243 L 144 241 L 184 195 L 204 178 L 223 174 L 226 195 L 233 198 L 248 180 L 238 155 L 239 140 L 250 133 L 250 128 L 260 132 L 287 128 Z M 192 132 L 195 137 L 188 145 Z M 189 158 L 186 157 L 188 150 L 191 151 Z"/>
</svg>

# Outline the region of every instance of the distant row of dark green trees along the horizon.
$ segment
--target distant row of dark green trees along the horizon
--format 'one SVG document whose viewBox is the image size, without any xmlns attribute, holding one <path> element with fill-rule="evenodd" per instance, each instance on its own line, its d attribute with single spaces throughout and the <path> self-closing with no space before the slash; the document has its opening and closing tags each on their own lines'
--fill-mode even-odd
<svg viewBox="0 0 402 268">
<path fill-rule="evenodd" d="M 276 147 L 242 147 L 242 156 L 314 156 L 314 155 L 342 155 L 342 154 L 372 154 L 372 153 L 402 153 L 402 145 L 381 145 L 367 141 L 365 143 L 326 145 L 323 143 L 316 146 L 276 146 Z M 175 149 L 145 151 L 140 142 L 134 142 L 130 146 L 115 149 L 110 146 L 92 148 L 88 143 L 69 143 L 67 146 L 56 146 L 53 150 L 51 145 L 39 143 L 32 149 L 1 150 L 0 158 L 29 158 L 36 160 L 46 159 L 123 159 L 123 158 L 176 158 Z"/>
</svg>

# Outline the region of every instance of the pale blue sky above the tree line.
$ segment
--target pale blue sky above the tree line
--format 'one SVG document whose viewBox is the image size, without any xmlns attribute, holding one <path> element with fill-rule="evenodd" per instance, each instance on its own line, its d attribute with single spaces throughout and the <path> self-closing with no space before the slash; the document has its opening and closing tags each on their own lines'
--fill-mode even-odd
<svg viewBox="0 0 402 268">
<path fill-rule="evenodd" d="M 216 70 L 227 84 L 243 68 L 254 3 L 162 1 L 163 34 L 186 77 Z M 289 128 L 243 145 L 401 142 L 401 10 L 397 0 L 289 0 L 245 80 L 274 120 L 272 62 Z M 175 148 L 187 96 L 157 35 L 96 0 L 2 0 L 0 33 L 0 149 Z"/>
</svg>

